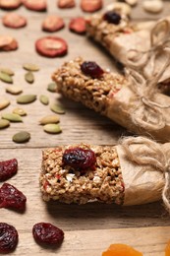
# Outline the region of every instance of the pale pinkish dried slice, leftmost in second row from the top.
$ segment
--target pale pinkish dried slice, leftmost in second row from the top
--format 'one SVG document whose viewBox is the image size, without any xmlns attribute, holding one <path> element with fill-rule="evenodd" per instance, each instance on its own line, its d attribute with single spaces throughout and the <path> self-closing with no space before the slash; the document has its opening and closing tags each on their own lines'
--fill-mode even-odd
<svg viewBox="0 0 170 256">
<path fill-rule="evenodd" d="M 27 20 L 25 17 L 19 14 L 9 13 L 2 18 L 2 23 L 8 28 L 20 29 L 27 25 Z"/>
</svg>

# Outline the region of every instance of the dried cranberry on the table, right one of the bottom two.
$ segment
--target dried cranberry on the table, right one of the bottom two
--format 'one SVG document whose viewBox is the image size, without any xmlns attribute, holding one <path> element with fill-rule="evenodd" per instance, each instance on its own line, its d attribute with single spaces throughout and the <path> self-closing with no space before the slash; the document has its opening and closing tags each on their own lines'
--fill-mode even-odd
<svg viewBox="0 0 170 256">
<path fill-rule="evenodd" d="M 38 223 L 32 227 L 32 234 L 36 242 L 59 245 L 64 239 L 64 232 L 53 224 Z"/>
</svg>

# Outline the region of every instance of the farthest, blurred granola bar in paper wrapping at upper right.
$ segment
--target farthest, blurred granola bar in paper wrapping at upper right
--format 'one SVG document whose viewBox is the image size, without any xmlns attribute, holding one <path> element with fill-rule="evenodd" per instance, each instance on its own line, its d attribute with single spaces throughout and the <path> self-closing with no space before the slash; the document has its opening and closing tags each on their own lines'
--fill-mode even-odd
<svg viewBox="0 0 170 256">
<path fill-rule="evenodd" d="M 116 13 L 111 12 L 116 15 Z M 111 16 L 110 14 L 110 16 Z M 163 47 L 170 44 L 170 17 L 158 22 L 132 23 L 125 22 L 121 16 L 120 22 L 105 19 L 105 14 L 91 16 L 87 20 L 88 36 L 102 44 L 118 62 L 126 67 L 143 69 L 145 76 L 152 72 L 153 58 L 148 61 L 148 53 L 158 55 Z M 157 69 L 161 68 L 165 59 L 157 58 Z M 170 81 L 170 67 L 162 74 L 159 83 L 164 85 Z"/>
</svg>

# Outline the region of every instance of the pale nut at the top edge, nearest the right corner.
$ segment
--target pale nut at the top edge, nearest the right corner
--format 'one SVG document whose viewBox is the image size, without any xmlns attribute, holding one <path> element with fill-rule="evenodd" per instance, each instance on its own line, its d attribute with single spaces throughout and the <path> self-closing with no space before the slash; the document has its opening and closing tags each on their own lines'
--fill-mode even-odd
<svg viewBox="0 0 170 256">
<path fill-rule="evenodd" d="M 163 2 L 161 0 L 145 0 L 142 7 L 146 12 L 157 14 L 163 10 Z"/>
</svg>

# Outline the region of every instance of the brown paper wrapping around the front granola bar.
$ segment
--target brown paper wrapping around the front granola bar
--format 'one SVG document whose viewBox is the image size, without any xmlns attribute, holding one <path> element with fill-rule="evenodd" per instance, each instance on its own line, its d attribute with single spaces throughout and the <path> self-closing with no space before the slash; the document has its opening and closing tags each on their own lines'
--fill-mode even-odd
<svg viewBox="0 0 170 256">
<path fill-rule="evenodd" d="M 164 174 L 151 165 L 139 165 L 127 160 L 121 146 L 116 149 L 125 185 L 124 205 L 141 205 L 160 200 L 165 184 Z"/>
</svg>

